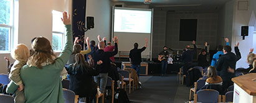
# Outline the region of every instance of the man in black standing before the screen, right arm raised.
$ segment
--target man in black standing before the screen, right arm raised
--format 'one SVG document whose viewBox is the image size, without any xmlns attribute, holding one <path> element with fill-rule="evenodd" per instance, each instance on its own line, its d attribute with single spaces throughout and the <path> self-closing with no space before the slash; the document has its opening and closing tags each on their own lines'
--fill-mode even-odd
<svg viewBox="0 0 256 103">
<path fill-rule="evenodd" d="M 138 43 L 134 43 L 134 48 L 130 50 L 129 59 L 131 63 L 131 68 L 135 69 L 138 75 L 138 78 L 140 78 L 140 63 L 141 63 L 141 52 L 146 50 L 146 47 L 148 46 L 148 38 L 145 39 L 146 43 L 143 48 L 138 49 Z"/>
</svg>

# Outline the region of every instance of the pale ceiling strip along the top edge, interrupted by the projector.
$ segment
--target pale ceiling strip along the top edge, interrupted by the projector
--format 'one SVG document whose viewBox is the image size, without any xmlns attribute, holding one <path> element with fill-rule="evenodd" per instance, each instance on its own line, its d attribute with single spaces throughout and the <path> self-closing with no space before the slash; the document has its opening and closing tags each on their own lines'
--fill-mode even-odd
<svg viewBox="0 0 256 103">
<path fill-rule="evenodd" d="M 144 0 L 112 0 L 127 5 L 142 5 Z M 217 11 L 230 0 L 151 0 L 150 8 L 166 11 Z"/>
</svg>

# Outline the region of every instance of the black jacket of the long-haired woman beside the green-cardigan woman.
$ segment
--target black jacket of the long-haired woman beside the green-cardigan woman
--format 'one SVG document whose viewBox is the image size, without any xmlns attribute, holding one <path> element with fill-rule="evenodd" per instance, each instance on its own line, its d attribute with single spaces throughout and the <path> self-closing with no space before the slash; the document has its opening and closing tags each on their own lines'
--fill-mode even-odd
<svg viewBox="0 0 256 103">
<path fill-rule="evenodd" d="M 80 67 L 78 67 L 80 68 Z M 82 71 L 78 69 L 78 71 L 74 71 L 73 64 L 67 67 L 67 72 L 70 74 L 70 84 L 69 89 L 75 92 L 79 97 L 88 97 L 93 94 L 93 76 L 97 76 L 99 74 L 100 66 L 97 65 L 96 69 L 92 67 L 88 68 L 88 71 Z"/>
</svg>

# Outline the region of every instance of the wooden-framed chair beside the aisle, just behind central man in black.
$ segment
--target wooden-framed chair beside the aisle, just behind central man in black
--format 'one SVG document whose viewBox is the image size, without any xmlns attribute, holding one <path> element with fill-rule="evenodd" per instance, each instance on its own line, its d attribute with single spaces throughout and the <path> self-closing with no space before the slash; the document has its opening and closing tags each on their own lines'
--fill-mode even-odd
<svg viewBox="0 0 256 103">
<path fill-rule="evenodd" d="M 134 80 L 131 78 L 131 73 L 128 71 L 120 70 L 118 73 L 122 74 L 123 81 L 129 82 L 129 94 L 131 93 L 131 82 L 133 82 L 133 91 L 134 91 Z"/>
</svg>

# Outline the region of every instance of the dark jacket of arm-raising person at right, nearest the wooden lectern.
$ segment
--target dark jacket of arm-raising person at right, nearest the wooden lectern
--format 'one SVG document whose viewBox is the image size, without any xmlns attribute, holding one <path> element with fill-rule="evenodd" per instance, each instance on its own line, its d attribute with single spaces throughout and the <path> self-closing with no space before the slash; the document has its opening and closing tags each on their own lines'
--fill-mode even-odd
<svg viewBox="0 0 256 103">
<path fill-rule="evenodd" d="M 235 47 L 235 53 L 237 55 L 232 52 L 228 52 L 225 55 L 220 56 L 219 60 L 215 65 L 223 81 L 231 81 L 231 78 L 235 77 L 235 73 L 229 73 L 227 71 L 229 67 L 235 69 L 237 61 L 241 58 L 238 47 Z"/>
</svg>

